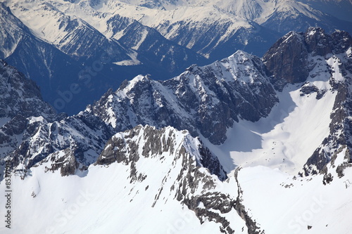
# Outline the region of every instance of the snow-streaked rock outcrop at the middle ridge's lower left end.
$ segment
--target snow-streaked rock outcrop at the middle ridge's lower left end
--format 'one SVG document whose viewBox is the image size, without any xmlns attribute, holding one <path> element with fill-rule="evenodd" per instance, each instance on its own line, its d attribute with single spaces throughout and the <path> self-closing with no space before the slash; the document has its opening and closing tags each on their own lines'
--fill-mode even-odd
<svg viewBox="0 0 352 234">
<path fill-rule="evenodd" d="M 9 156 L 16 162 L 25 162 L 25 169 L 30 169 L 54 152 L 74 148 L 65 155 L 75 157 L 82 169 L 96 162 L 99 152 L 113 135 L 112 132 L 100 119 L 87 113 L 54 122 L 42 121 L 33 127 L 33 131 L 27 134 Z"/>
</svg>

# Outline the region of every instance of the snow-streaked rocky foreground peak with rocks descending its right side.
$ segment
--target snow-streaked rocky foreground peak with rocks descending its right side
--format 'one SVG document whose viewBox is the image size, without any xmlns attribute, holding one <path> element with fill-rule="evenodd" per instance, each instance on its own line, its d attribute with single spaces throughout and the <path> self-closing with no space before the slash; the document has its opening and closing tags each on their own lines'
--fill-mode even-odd
<svg viewBox="0 0 352 234">
<path fill-rule="evenodd" d="M 158 167 L 156 174 L 163 179 L 154 181 L 161 184 L 156 187 L 158 192 L 152 207 L 174 197 L 193 211 L 201 223 L 213 221 L 220 225 L 223 233 L 234 233 L 230 220 L 226 218 L 229 212 L 236 212 L 234 195 L 215 191 L 216 186 L 227 178 L 225 171 L 218 158 L 188 131 L 139 125 L 115 134 L 106 143 L 96 164 L 113 162 L 125 164 L 130 171 L 128 179 L 135 184 L 151 179 L 144 170 L 154 162 Z M 164 169 L 165 173 L 161 174 Z"/>
</svg>

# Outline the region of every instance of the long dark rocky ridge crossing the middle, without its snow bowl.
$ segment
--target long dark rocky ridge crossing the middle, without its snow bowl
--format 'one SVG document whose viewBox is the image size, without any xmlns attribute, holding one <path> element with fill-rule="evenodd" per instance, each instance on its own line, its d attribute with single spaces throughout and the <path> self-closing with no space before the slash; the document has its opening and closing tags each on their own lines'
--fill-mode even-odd
<svg viewBox="0 0 352 234">
<path fill-rule="evenodd" d="M 342 145 L 348 145 L 350 134 L 346 110 L 349 102 L 346 101 L 348 91 L 344 87 L 351 74 L 350 47 L 351 37 L 346 32 L 329 35 L 320 28 L 310 28 L 304 34 L 290 32 L 277 41 L 263 61 L 237 51 L 211 65 L 192 65 L 180 76 L 167 81 L 154 81 L 140 75 L 123 82 L 117 91 L 108 91 L 101 100 L 78 115 L 58 115 L 54 119 L 17 117 L 11 120 L 13 127 L 6 125 L 3 130 L 15 132 L 9 141 L 17 142 L 15 135 L 25 134 L 23 140 L 3 153 L 3 157 L 11 155 L 14 166 L 25 162 L 22 169 L 26 170 L 49 155 L 52 160 L 56 158 L 56 162 L 61 162 L 62 154 L 67 154 L 75 157 L 77 162 L 72 167 L 80 165 L 76 169 L 84 169 L 96 162 L 114 133 L 139 124 L 156 126 L 157 129 L 165 126 L 173 126 L 180 131 L 187 129 L 193 137 L 201 134 L 210 143 L 221 144 L 227 139 L 227 129 L 239 119 L 256 122 L 268 116 L 279 102 L 277 91 L 282 91 L 287 84 L 302 84 L 301 95 L 317 93 L 317 99 L 324 96 L 327 88 L 318 88 L 309 82 L 315 77 L 314 72 L 325 72 L 330 80 L 329 89 L 339 93 L 335 110 L 343 106 L 340 109 L 345 114 L 332 115 L 332 121 L 339 127 L 331 127 L 331 131 L 334 135 L 338 132 L 334 129 L 346 129 L 346 143 Z M 292 48 L 300 48 L 301 52 L 294 53 Z M 291 56 L 282 57 L 286 54 Z M 277 63 L 287 68 L 280 69 Z M 300 69 L 302 72 L 298 74 L 293 72 Z M 341 125 L 342 122 L 345 124 Z M 339 138 L 329 144 L 341 146 L 343 141 L 336 140 Z M 334 149 L 330 148 L 332 154 Z M 60 154 L 56 153 L 59 151 Z M 320 171 L 330 160 L 331 156 L 320 159 L 320 166 L 319 160 L 313 162 Z M 307 168 L 311 162 L 312 159 L 308 160 Z"/>
</svg>

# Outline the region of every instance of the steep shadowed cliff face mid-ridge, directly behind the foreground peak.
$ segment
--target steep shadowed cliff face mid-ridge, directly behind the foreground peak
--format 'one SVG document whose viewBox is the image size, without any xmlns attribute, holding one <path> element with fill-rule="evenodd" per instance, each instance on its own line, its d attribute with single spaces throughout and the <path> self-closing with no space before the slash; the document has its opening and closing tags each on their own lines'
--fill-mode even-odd
<svg viewBox="0 0 352 234">
<path fill-rule="evenodd" d="M 87 108 L 118 131 L 137 124 L 197 131 L 215 144 L 238 119 L 256 121 L 277 102 L 260 58 L 238 51 L 165 82 L 139 76 Z M 122 114 L 123 113 L 123 114 Z"/>
</svg>

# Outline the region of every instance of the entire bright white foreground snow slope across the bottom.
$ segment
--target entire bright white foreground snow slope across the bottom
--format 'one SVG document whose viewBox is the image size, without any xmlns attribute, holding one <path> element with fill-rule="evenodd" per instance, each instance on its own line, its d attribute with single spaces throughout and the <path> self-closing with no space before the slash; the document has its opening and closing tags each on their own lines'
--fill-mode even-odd
<svg viewBox="0 0 352 234">
<path fill-rule="evenodd" d="M 11 230 L 1 226 L 1 233 L 220 233 L 218 223 L 200 223 L 194 210 L 175 200 L 170 186 L 177 183 L 178 171 L 184 167 L 182 160 L 168 153 L 141 157 L 137 172 L 147 176 L 134 183 L 127 182 L 130 165 L 122 162 L 92 165 L 87 172 L 77 171 L 73 176 L 45 173 L 45 166 L 33 167 L 24 180 L 12 176 L 13 223 Z M 278 169 L 247 167 L 239 169 L 237 176 L 232 171 L 224 182 L 210 177 L 215 187 L 203 192 L 199 187 L 195 194 L 216 191 L 239 196 L 258 231 L 265 233 L 347 234 L 352 228 L 352 186 L 346 179 L 351 178 L 352 170 L 345 172 L 346 177 L 324 186 L 321 175 L 296 178 Z M 0 188 L 5 189 L 4 183 Z M 0 201 L 1 207 L 4 202 Z M 198 207 L 204 207 L 203 202 Z M 233 223 L 235 233 L 247 233 L 237 212 L 222 215 Z"/>
</svg>

